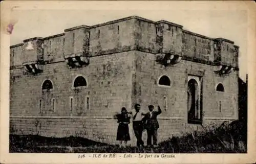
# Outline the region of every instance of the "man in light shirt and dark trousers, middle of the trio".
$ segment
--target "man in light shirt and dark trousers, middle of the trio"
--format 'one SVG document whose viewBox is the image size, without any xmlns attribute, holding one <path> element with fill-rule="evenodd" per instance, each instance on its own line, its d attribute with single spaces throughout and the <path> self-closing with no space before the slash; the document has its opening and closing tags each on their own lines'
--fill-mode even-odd
<svg viewBox="0 0 256 164">
<path fill-rule="evenodd" d="M 142 123 L 142 118 L 146 114 L 146 112 L 140 110 L 140 104 L 135 104 L 134 106 L 135 109 L 132 109 L 131 112 L 128 112 L 132 114 L 133 118 L 133 130 L 134 134 L 137 138 L 137 146 L 144 146 L 144 142 L 142 140 L 142 132 L 143 132 L 143 123 Z"/>
</svg>

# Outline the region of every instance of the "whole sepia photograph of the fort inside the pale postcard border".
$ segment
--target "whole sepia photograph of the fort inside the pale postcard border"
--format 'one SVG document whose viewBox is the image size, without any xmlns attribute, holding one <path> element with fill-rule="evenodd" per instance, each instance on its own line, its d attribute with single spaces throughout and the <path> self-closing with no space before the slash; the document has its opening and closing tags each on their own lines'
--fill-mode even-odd
<svg viewBox="0 0 256 164">
<path fill-rule="evenodd" d="M 248 153 L 248 9 L 31 2 L 1 18 L 9 154 Z"/>
</svg>

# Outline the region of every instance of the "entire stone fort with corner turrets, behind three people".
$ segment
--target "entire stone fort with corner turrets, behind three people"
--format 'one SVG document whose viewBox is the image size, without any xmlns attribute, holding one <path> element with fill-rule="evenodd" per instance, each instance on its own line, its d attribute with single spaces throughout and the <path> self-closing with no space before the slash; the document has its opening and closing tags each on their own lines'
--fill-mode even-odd
<svg viewBox="0 0 256 164">
<path fill-rule="evenodd" d="M 158 142 L 237 120 L 238 52 L 233 41 L 138 16 L 26 39 L 10 46 L 10 134 L 115 144 L 114 115 L 136 103 L 161 106 Z M 132 120 L 130 135 L 134 144 Z"/>
</svg>

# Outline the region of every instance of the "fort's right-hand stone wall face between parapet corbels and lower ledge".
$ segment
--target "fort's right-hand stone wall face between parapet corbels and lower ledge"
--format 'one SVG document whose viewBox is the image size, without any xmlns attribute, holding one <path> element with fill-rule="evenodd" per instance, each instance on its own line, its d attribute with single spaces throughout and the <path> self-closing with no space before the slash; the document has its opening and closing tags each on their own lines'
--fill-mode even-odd
<svg viewBox="0 0 256 164">
<path fill-rule="evenodd" d="M 135 53 L 136 73 L 134 78 L 133 101 L 141 102 L 142 107 L 153 104 L 167 108 L 164 116 L 184 116 L 187 113 L 187 76 L 203 73 L 203 111 L 205 117 L 234 117 L 238 110 L 238 72 L 225 77 L 214 73 L 214 66 L 181 60 L 172 66 L 163 66 L 155 62 L 155 55 L 150 53 Z M 159 86 L 161 76 L 170 78 L 170 86 Z M 201 76 L 201 75 L 200 75 Z M 216 91 L 217 84 L 222 83 L 225 91 Z M 221 101 L 221 111 L 219 103 Z"/>
</svg>

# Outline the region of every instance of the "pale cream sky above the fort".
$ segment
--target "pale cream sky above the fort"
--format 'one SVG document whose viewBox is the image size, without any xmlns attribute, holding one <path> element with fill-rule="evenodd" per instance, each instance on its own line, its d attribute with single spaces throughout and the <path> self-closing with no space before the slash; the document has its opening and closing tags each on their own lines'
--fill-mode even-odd
<svg viewBox="0 0 256 164">
<path fill-rule="evenodd" d="M 134 2 L 131 2 L 134 3 Z M 131 4 L 130 3 L 130 4 Z M 167 3 L 167 2 L 165 2 Z M 137 15 L 154 21 L 167 20 L 182 25 L 183 29 L 199 33 L 211 38 L 226 38 L 240 46 L 239 66 L 240 77 L 245 80 L 247 73 L 247 30 L 248 20 L 246 10 L 223 9 L 208 5 L 207 8 L 195 9 L 178 7 L 179 5 L 143 3 L 142 8 L 113 8 L 108 5 L 94 4 L 76 9 L 22 9 L 12 11 L 11 17 L 15 21 L 14 30 L 10 36 L 10 44 L 22 43 L 24 39 L 32 37 L 47 37 L 63 33 L 65 29 L 80 25 L 96 25 L 127 16 Z M 173 5 L 172 5 L 173 4 Z M 176 6 L 175 6 L 176 5 Z M 188 4 L 189 5 L 189 4 Z M 153 7 L 150 7 L 153 6 Z M 200 4 L 199 4 L 200 6 Z M 99 7 L 101 7 L 99 9 Z"/>
</svg>

